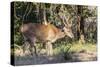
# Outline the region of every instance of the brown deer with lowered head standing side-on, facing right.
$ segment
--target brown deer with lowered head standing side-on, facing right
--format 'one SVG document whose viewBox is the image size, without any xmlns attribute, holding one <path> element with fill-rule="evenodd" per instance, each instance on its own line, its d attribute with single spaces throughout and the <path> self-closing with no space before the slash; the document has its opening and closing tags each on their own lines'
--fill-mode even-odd
<svg viewBox="0 0 100 67">
<path fill-rule="evenodd" d="M 71 24 L 64 23 L 62 29 L 57 28 L 55 25 L 48 23 L 27 23 L 23 24 L 20 28 L 21 33 L 24 36 L 25 41 L 28 41 L 31 48 L 34 47 L 35 54 L 37 55 L 36 41 L 45 43 L 47 55 L 52 55 L 52 43 L 56 40 L 64 38 L 66 35 L 73 38 L 74 35 L 71 30 Z"/>
</svg>

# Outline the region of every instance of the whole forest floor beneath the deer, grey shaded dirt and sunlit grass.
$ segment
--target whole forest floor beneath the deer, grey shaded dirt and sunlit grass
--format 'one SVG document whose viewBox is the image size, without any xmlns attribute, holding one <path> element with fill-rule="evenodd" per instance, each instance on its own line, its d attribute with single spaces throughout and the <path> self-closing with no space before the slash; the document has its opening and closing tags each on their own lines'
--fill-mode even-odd
<svg viewBox="0 0 100 67">
<path fill-rule="evenodd" d="M 40 51 L 38 56 L 24 55 L 15 56 L 15 65 L 37 65 L 37 64 L 52 64 L 52 63 L 66 63 L 66 62 L 87 62 L 97 60 L 96 45 L 72 45 L 69 52 L 62 52 L 60 46 L 54 49 L 53 56 L 47 56 L 45 49 Z M 59 50 L 58 50 L 59 49 Z M 43 53 L 44 52 L 44 53 Z"/>
</svg>

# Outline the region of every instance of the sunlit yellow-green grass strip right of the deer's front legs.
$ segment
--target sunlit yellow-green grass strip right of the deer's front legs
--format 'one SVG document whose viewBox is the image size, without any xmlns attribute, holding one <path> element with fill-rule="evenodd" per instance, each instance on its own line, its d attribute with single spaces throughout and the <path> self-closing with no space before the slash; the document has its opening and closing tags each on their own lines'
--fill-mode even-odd
<svg viewBox="0 0 100 67">
<path fill-rule="evenodd" d="M 94 43 L 79 43 L 79 42 L 73 42 L 73 43 L 69 43 L 69 44 L 62 44 L 59 47 L 56 47 L 54 49 L 54 54 L 60 54 L 60 53 L 69 53 L 69 52 L 80 52 L 82 50 L 84 51 L 89 51 L 89 52 L 96 52 L 96 44 Z"/>
</svg>

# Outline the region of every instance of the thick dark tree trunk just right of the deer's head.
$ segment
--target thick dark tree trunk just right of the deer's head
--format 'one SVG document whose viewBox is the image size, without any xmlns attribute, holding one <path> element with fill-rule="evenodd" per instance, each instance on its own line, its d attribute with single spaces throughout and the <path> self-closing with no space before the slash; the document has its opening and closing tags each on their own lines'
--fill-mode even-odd
<svg viewBox="0 0 100 67">
<path fill-rule="evenodd" d="M 82 16 L 83 13 L 83 7 L 82 6 L 77 6 L 77 13 L 78 13 L 78 22 L 77 22 L 77 38 L 79 40 L 79 42 L 81 43 L 85 43 L 85 39 L 84 39 L 84 18 Z"/>
</svg>

